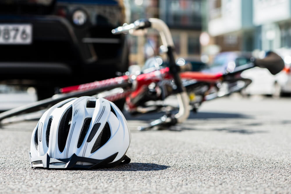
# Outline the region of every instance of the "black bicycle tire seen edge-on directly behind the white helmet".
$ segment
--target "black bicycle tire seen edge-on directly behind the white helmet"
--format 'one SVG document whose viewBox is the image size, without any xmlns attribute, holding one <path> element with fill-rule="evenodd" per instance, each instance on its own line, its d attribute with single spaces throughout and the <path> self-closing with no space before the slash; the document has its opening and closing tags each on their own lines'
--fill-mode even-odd
<svg viewBox="0 0 291 194">
<path fill-rule="evenodd" d="M 19 106 L 19 107 L 10 109 L 8 111 L 5 111 L 3 113 L 0 113 L 0 121 L 8 117 L 19 115 L 21 113 L 31 113 L 34 111 L 39 111 L 41 109 L 47 108 L 51 104 L 56 104 L 68 98 L 81 97 L 81 96 L 93 96 L 93 95 L 96 95 L 98 92 L 103 92 L 105 90 L 111 90 L 114 88 L 127 88 L 130 86 L 131 86 L 131 83 L 127 82 L 127 83 L 118 83 L 116 85 L 106 86 L 106 87 L 92 89 L 92 90 L 58 94 L 56 96 L 53 96 L 47 99 L 43 99 L 43 100 L 36 101 L 30 104 Z"/>
</svg>

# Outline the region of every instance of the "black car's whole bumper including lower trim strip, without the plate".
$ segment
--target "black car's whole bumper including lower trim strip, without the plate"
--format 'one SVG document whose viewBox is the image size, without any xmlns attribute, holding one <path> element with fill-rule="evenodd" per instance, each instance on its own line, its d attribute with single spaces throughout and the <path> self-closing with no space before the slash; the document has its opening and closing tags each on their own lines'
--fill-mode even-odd
<svg viewBox="0 0 291 194">
<path fill-rule="evenodd" d="M 31 24 L 33 38 L 30 45 L 0 44 L 1 81 L 61 79 L 58 75 L 63 75 L 69 76 L 71 80 L 79 80 L 77 83 L 86 83 L 113 77 L 116 71 L 125 69 L 116 68 L 121 67 L 123 59 L 127 57 L 125 36 L 113 37 L 111 30 L 107 33 L 109 26 L 105 32 L 105 28 L 102 28 L 98 31 L 99 34 L 84 38 L 78 36 L 68 20 L 54 15 L 0 14 L 0 24 L 4 23 Z M 93 26 L 91 30 L 96 31 L 97 27 Z M 107 72 L 109 73 L 106 74 Z"/>
</svg>

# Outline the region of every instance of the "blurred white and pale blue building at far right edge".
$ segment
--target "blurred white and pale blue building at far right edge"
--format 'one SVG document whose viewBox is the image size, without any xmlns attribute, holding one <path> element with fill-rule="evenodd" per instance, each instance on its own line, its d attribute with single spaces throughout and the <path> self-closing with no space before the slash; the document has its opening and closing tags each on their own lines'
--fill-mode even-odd
<svg viewBox="0 0 291 194">
<path fill-rule="evenodd" d="M 258 26 L 258 49 L 291 48 L 290 0 L 253 0 L 253 24 Z"/>
</svg>

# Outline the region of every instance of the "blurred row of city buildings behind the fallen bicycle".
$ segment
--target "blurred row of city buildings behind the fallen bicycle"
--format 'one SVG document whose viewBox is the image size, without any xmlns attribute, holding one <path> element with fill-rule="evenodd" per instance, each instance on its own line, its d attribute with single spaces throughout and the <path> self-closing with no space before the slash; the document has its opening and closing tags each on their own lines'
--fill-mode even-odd
<svg viewBox="0 0 291 194">
<path fill-rule="evenodd" d="M 291 46 L 289 0 L 131 0 L 130 5 L 131 22 L 159 17 L 168 24 L 179 56 Z M 142 54 L 143 43 L 134 40 L 132 53 Z M 132 55 L 133 63 L 138 60 Z"/>
</svg>

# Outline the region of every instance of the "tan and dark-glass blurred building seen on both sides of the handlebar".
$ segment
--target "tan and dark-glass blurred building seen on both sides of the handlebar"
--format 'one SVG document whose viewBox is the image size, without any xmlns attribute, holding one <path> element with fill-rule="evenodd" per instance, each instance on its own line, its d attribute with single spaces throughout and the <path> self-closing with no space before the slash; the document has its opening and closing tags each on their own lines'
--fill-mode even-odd
<svg viewBox="0 0 291 194">
<path fill-rule="evenodd" d="M 198 57 L 201 48 L 202 0 L 131 0 L 131 22 L 139 18 L 157 17 L 169 26 L 176 53 L 182 57 Z M 158 54 L 161 41 L 155 31 L 147 37 L 131 37 L 131 62 L 143 64 Z M 150 51 L 152 48 L 153 51 Z"/>
</svg>

